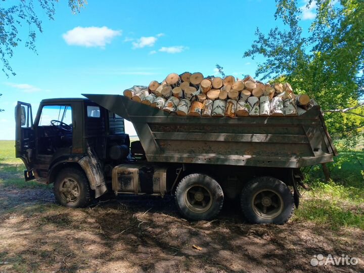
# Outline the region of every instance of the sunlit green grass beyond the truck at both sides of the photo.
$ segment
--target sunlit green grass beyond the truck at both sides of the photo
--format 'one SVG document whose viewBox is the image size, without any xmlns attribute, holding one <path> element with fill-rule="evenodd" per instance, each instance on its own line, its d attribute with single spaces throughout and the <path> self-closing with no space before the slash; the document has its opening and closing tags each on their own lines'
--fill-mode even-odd
<svg viewBox="0 0 364 273">
<path fill-rule="evenodd" d="M 49 187 L 25 182 L 24 165 L 15 158 L 14 141 L 0 141 L 0 186 L 18 188 Z M 335 230 L 354 226 L 364 230 L 364 152 L 341 152 L 329 163 L 332 180 L 324 182 L 321 166 L 305 169 L 303 198 L 293 221 L 311 221 Z"/>
</svg>

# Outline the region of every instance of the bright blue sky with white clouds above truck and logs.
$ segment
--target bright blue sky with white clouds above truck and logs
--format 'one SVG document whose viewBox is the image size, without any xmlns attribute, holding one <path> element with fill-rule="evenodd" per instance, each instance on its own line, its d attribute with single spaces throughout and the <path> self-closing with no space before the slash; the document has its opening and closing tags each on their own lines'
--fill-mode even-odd
<svg viewBox="0 0 364 273">
<path fill-rule="evenodd" d="M 305 4 L 302 0 L 302 6 Z M 275 21 L 275 1 L 95 1 L 73 15 L 66 1 L 56 6 L 54 21 L 39 11 L 38 55 L 15 49 L 16 76 L 0 73 L 0 140 L 15 138 L 16 101 L 32 104 L 47 98 L 82 97 L 82 93 L 122 94 L 132 85 L 161 81 L 184 71 L 254 75 L 254 60 L 243 53 L 255 39 L 256 27 L 266 33 L 282 26 Z M 303 11 L 302 24 L 314 18 L 314 4 Z M 27 28 L 21 30 L 26 40 Z M 130 124 L 127 132 L 134 134 Z"/>
</svg>

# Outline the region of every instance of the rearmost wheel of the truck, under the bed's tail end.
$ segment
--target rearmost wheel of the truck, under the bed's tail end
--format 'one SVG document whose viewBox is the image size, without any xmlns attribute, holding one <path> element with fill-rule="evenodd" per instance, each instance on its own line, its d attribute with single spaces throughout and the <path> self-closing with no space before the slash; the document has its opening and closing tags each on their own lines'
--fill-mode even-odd
<svg viewBox="0 0 364 273">
<path fill-rule="evenodd" d="M 274 177 L 257 177 L 241 193 L 241 208 L 251 223 L 284 224 L 291 218 L 294 200 L 290 189 Z"/>
</svg>

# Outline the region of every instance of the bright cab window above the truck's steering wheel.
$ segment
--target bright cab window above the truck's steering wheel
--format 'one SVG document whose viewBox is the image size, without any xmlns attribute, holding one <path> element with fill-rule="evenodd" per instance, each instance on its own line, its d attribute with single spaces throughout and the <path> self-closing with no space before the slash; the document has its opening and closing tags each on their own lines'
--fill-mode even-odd
<svg viewBox="0 0 364 273">
<path fill-rule="evenodd" d="M 72 123 L 72 109 L 67 105 L 43 106 L 39 119 L 39 126 L 51 125 L 51 120 L 62 121 L 68 125 Z"/>
</svg>

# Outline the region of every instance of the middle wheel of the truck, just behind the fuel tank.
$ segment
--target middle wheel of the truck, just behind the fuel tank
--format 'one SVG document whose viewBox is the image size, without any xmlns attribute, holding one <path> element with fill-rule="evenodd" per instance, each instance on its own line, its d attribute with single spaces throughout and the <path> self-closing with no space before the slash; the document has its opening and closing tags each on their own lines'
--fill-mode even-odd
<svg viewBox="0 0 364 273">
<path fill-rule="evenodd" d="M 214 218 L 223 205 L 223 192 L 215 179 L 200 173 L 182 178 L 175 191 L 180 213 L 190 220 Z"/>
</svg>

